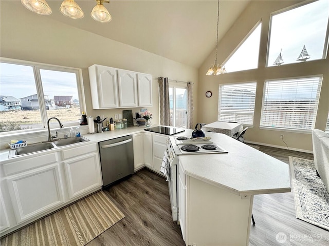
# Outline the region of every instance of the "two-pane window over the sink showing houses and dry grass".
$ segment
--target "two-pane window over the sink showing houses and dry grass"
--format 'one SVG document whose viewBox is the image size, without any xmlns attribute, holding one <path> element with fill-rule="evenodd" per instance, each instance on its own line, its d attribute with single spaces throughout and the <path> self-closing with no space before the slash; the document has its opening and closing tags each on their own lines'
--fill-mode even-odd
<svg viewBox="0 0 329 246">
<path fill-rule="evenodd" d="M 79 69 L 9 59 L 2 59 L 0 69 L 0 132 L 42 129 L 50 117 L 78 125 Z"/>
</svg>

